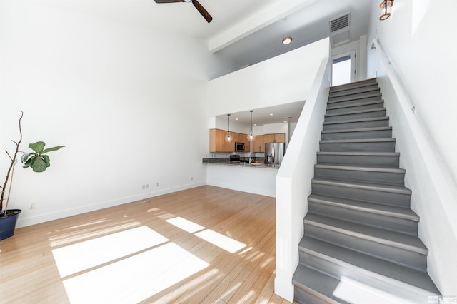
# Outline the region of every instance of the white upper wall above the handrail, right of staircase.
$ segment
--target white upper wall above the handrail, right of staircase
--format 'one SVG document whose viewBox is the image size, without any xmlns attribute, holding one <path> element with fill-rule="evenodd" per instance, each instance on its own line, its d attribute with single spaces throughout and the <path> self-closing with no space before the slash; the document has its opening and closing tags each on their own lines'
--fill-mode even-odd
<svg viewBox="0 0 457 304">
<path fill-rule="evenodd" d="M 416 117 L 436 150 L 448 164 L 457 185 L 457 41 L 451 0 L 402 0 L 395 2 L 392 16 L 378 21 L 373 0 L 373 18 L 368 48 L 376 36 L 403 81 L 416 106 Z M 368 77 L 376 76 L 376 51 L 368 50 Z"/>
</svg>

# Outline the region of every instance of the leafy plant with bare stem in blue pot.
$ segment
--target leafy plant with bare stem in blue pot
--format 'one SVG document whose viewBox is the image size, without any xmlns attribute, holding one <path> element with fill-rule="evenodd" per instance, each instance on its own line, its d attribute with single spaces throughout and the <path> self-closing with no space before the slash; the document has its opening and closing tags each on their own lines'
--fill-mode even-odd
<svg viewBox="0 0 457 304">
<path fill-rule="evenodd" d="M 11 154 L 9 154 L 9 152 L 5 150 L 11 163 L 9 165 L 8 171 L 6 171 L 4 184 L 3 186 L 0 186 L 0 240 L 9 238 L 11 235 L 14 234 L 14 229 L 16 228 L 16 221 L 19 216 L 19 213 L 21 213 L 21 209 L 8 209 L 9 196 L 11 194 L 11 186 L 13 184 L 14 167 L 17 162 L 18 154 L 23 153 L 21 157 L 21 162 L 24 163 L 24 168 L 30 167 L 34 172 L 43 172 L 46 170 L 46 168 L 51 166 L 49 156 L 46 155 L 46 153 L 50 151 L 59 150 L 60 148 L 64 147 L 56 146 L 45 149 L 45 143 L 43 141 L 37 141 L 36 143 L 29 144 L 29 148 L 31 148 L 32 152 L 19 151 L 19 146 L 21 145 L 22 141 L 21 120 L 23 116 L 24 113 L 21 111 L 21 117 L 19 118 L 19 141 L 13 141 L 13 143 L 16 145 L 16 150 L 14 151 L 13 156 L 11 156 Z M 6 191 L 6 187 L 8 187 L 8 191 Z M 7 196 L 5 208 L 3 208 L 5 193 L 7 193 Z"/>
</svg>

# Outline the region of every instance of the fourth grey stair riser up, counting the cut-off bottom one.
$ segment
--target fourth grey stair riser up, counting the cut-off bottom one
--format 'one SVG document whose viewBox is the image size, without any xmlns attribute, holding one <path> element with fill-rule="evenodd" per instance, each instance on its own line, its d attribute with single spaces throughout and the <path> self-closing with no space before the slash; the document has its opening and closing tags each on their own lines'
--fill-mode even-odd
<svg viewBox="0 0 457 304">
<path fill-rule="evenodd" d="M 322 216 L 339 218 L 353 223 L 361 223 L 368 226 L 385 228 L 402 233 L 414 235 L 417 233 L 417 222 L 405 218 L 384 216 L 377 213 L 358 211 L 340 206 L 331 206 L 323 203 L 308 201 L 308 212 Z"/>
</svg>

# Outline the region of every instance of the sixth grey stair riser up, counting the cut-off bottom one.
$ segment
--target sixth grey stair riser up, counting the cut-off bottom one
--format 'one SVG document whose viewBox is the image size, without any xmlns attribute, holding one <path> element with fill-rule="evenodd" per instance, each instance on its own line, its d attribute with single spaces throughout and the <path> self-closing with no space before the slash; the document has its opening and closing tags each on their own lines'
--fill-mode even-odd
<svg viewBox="0 0 457 304">
<path fill-rule="evenodd" d="M 314 177 L 323 179 L 336 179 L 340 181 L 361 181 L 368 183 L 386 183 L 403 186 L 405 173 L 340 170 L 334 168 L 314 168 Z"/>
</svg>

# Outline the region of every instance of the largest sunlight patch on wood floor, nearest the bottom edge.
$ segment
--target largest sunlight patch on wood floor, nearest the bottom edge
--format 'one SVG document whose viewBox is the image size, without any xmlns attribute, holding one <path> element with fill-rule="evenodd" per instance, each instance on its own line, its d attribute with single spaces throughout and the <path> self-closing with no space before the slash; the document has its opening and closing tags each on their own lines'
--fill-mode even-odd
<svg viewBox="0 0 457 304">
<path fill-rule="evenodd" d="M 209 264 L 174 243 L 64 280 L 71 303 L 138 303 Z"/>
</svg>

